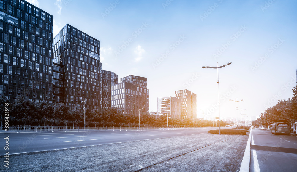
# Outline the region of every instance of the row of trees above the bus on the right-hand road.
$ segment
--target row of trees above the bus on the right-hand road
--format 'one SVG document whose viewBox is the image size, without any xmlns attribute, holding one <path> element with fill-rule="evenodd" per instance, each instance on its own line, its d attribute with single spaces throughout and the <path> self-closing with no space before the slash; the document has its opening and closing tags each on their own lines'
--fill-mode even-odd
<svg viewBox="0 0 297 172">
<path fill-rule="evenodd" d="M 292 99 L 279 100 L 273 107 L 268 107 L 261 113 L 260 118 L 252 122 L 252 125 L 267 128 L 276 122 L 295 123 L 297 121 L 297 85 L 292 89 L 292 92 Z"/>
</svg>

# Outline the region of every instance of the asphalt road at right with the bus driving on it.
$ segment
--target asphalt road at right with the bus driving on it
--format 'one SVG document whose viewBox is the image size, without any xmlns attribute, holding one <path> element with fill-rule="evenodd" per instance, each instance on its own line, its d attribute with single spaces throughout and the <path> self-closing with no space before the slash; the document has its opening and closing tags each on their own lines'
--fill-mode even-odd
<svg viewBox="0 0 297 172">
<path fill-rule="evenodd" d="M 255 172 L 297 171 L 297 135 L 252 130 L 251 169 Z"/>
</svg>

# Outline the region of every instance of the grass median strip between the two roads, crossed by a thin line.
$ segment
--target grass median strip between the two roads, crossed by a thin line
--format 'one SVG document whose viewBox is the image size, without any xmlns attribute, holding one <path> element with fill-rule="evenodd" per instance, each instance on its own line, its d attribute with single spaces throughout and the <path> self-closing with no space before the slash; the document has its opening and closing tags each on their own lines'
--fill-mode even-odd
<svg viewBox="0 0 297 172">
<path fill-rule="evenodd" d="M 247 139 L 248 135 L 207 133 L 10 155 L 9 171 L 135 171 L 214 142 L 219 143 L 142 171 L 236 171 Z"/>
</svg>

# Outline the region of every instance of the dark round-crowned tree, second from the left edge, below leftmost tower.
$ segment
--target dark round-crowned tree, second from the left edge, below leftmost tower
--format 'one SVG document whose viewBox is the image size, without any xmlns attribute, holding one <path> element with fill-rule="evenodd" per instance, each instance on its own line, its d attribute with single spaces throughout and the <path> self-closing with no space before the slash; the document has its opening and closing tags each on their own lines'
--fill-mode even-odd
<svg viewBox="0 0 297 172">
<path fill-rule="evenodd" d="M 24 126 L 26 126 L 26 121 L 34 119 L 33 114 L 35 112 L 34 102 L 30 101 L 28 97 L 23 95 L 18 95 L 15 99 L 15 104 L 12 108 L 12 114 L 15 118 L 24 121 Z"/>
</svg>

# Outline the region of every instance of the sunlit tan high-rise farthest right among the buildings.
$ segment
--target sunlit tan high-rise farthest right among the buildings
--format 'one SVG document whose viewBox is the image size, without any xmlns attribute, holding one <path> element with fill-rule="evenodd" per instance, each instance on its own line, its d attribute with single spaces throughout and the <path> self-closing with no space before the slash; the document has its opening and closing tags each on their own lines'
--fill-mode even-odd
<svg viewBox="0 0 297 172">
<path fill-rule="evenodd" d="M 192 93 L 189 90 L 179 90 L 175 91 L 175 98 L 181 100 L 181 117 L 197 117 L 196 94 Z"/>
</svg>

